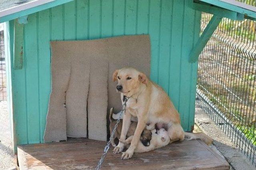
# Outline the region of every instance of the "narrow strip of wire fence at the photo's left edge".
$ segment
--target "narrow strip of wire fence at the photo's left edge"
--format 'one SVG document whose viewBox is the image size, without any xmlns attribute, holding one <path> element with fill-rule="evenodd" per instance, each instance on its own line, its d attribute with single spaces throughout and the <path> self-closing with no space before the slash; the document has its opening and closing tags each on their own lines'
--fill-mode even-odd
<svg viewBox="0 0 256 170">
<path fill-rule="evenodd" d="M 1 25 L 0 25 L 1 26 Z M 0 101 L 6 100 L 6 66 L 4 58 L 4 31 L 0 31 Z"/>
</svg>

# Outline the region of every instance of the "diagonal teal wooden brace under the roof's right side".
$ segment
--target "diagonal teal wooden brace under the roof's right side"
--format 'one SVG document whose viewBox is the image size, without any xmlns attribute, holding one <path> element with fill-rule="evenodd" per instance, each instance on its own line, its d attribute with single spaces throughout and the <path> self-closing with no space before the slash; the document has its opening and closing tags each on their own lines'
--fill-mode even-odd
<svg viewBox="0 0 256 170">
<path fill-rule="evenodd" d="M 204 29 L 204 32 L 202 33 L 202 35 L 194 45 L 194 48 L 190 52 L 190 55 L 188 58 L 190 63 L 195 63 L 198 60 L 198 57 L 201 51 L 204 49 L 206 43 L 209 41 L 210 37 L 214 33 L 215 29 L 218 27 L 221 20 L 222 20 L 221 16 L 216 16 L 216 15 L 212 16 L 208 25 Z"/>
</svg>

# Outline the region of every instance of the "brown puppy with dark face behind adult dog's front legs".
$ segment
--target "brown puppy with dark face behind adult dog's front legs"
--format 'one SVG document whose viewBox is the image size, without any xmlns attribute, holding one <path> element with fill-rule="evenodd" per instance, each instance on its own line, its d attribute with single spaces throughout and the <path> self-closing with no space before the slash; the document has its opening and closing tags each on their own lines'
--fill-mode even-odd
<svg viewBox="0 0 256 170">
<path fill-rule="evenodd" d="M 109 121 L 110 121 L 109 129 L 110 129 L 110 135 L 112 134 L 112 131 L 113 131 L 113 129 L 114 129 L 115 125 L 116 125 L 116 121 L 117 121 L 116 119 L 113 119 L 113 118 L 112 118 L 112 115 L 113 115 L 113 107 L 110 109 L 110 113 L 109 113 Z M 120 135 L 121 135 L 121 131 L 122 131 L 122 123 L 123 123 L 122 120 L 120 120 L 119 125 L 118 125 L 117 128 L 116 128 L 116 132 L 114 133 L 113 138 L 112 138 L 112 140 L 110 141 L 110 142 L 111 142 L 111 145 L 112 145 L 113 147 L 116 147 L 116 144 L 115 144 L 114 140 L 115 140 L 116 138 L 120 139 Z M 130 137 L 130 136 L 134 135 L 135 129 L 136 129 L 136 127 L 137 127 L 137 123 L 138 123 L 138 122 L 136 122 L 136 121 L 131 121 L 131 123 L 130 123 L 130 128 L 129 128 L 129 130 L 128 130 L 128 132 L 127 132 L 127 135 L 126 135 L 127 137 Z M 140 135 L 140 141 L 141 141 L 141 143 L 142 143 L 145 147 L 147 147 L 147 146 L 150 145 L 150 140 L 151 140 L 151 138 L 152 138 L 152 133 L 151 133 L 151 131 L 149 131 L 149 130 L 147 130 L 147 129 L 144 129 L 144 130 L 142 131 L 141 135 Z"/>
</svg>

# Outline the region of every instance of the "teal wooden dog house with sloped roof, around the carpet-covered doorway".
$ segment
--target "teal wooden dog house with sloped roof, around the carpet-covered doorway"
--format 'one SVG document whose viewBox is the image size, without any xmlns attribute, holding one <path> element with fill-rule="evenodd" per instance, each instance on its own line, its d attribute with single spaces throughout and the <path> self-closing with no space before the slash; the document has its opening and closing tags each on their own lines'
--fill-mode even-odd
<svg viewBox="0 0 256 170">
<path fill-rule="evenodd" d="M 31 147 L 24 144 L 37 144 L 33 146 L 38 150 L 40 146 L 58 148 L 55 144 L 39 144 L 44 143 L 51 92 L 50 41 L 149 35 L 150 79 L 170 96 L 180 113 L 182 127 L 191 131 L 197 59 L 204 45 L 223 17 L 256 18 L 255 8 L 235 0 L 16 1 L 3 1 L 0 5 L 0 22 L 5 22 L 8 108 L 14 152 L 17 152 L 17 145 Z M 213 17 L 200 36 L 201 11 Z M 78 146 L 72 145 L 72 141 L 68 145 Z M 205 147 L 198 141 L 193 145 Z M 103 150 L 104 144 L 99 142 L 97 146 Z M 204 158 L 209 155 L 215 154 L 205 154 Z M 222 162 L 212 165 L 227 167 L 222 158 L 216 158 Z"/>
</svg>

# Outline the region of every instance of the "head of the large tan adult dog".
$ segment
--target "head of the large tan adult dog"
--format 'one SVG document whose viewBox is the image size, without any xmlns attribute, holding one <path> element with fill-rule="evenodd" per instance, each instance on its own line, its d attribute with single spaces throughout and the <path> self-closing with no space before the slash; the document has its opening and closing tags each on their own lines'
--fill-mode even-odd
<svg viewBox="0 0 256 170">
<path fill-rule="evenodd" d="M 148 83 L 147 76 L 134 68 L 122 68 L 114 71 L 113 81 L 116 80 L 118 80 L 116 91 L 126 96 L 132 96 L 141 84 Z"/>
</svg>

